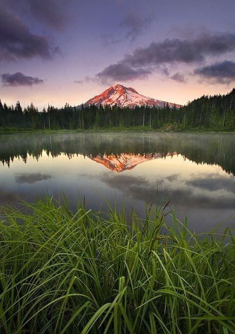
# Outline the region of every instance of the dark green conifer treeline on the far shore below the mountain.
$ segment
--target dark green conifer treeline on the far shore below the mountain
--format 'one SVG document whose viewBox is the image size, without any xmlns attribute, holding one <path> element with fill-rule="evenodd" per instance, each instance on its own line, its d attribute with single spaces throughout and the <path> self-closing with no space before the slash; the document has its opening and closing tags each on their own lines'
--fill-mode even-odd
<svg viewBox="0 0 235 334">
<path fill-rule="evenodd" d="M 26 129 L 102 129 L 131 126 L 149 129 L 205 128 L 230 131 L 235 127 L 235 88 L 227 95 L 203 96 L 177 109 L 166 104 L 159 107 L 121 108 L 68 103 L 61 109 L 48 105 L 38 112 L 31 103 L 22 108 L 19 101 L 14 106 L 0 100 L 0 128 Z"/>
</svg>

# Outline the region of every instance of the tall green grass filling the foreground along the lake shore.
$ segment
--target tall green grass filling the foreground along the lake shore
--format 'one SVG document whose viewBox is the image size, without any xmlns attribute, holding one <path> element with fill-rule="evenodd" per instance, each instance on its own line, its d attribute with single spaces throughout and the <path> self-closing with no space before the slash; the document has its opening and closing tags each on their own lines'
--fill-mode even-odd
<svg viewBox="0 0 235 334">
<path fill-rule="evenodd" d="M 75 214 L 51 199 L 3 208 L 1 333 L 234 333 L 234 238 L 165 210 Z"/>
</svg>

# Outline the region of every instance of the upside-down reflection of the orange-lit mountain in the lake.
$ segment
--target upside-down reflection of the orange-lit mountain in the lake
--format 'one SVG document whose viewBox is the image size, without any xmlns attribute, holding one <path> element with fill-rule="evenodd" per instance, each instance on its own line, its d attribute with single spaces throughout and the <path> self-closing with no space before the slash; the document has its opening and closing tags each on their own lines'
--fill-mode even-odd
<svg viewBox="0 0 235 334">
<path fill-rule="evenodd" d="M 97 155 L 96 157 L 90 157 L 93 161 L 103 164 L 105 167 L 114 171 L 116 173 L 120 173 L 126 170 L 132 170 L 135 166 L 145 161 L 150 161 L 159 158 L 165 158 L 169 156 L 173 156 L 177 154 L 174 153 L 147 153 L 147 154 L 126 154 L 121 153 L 118 155 L 114 154 L 104 154 L 103 156 Z"/>
</svg>

